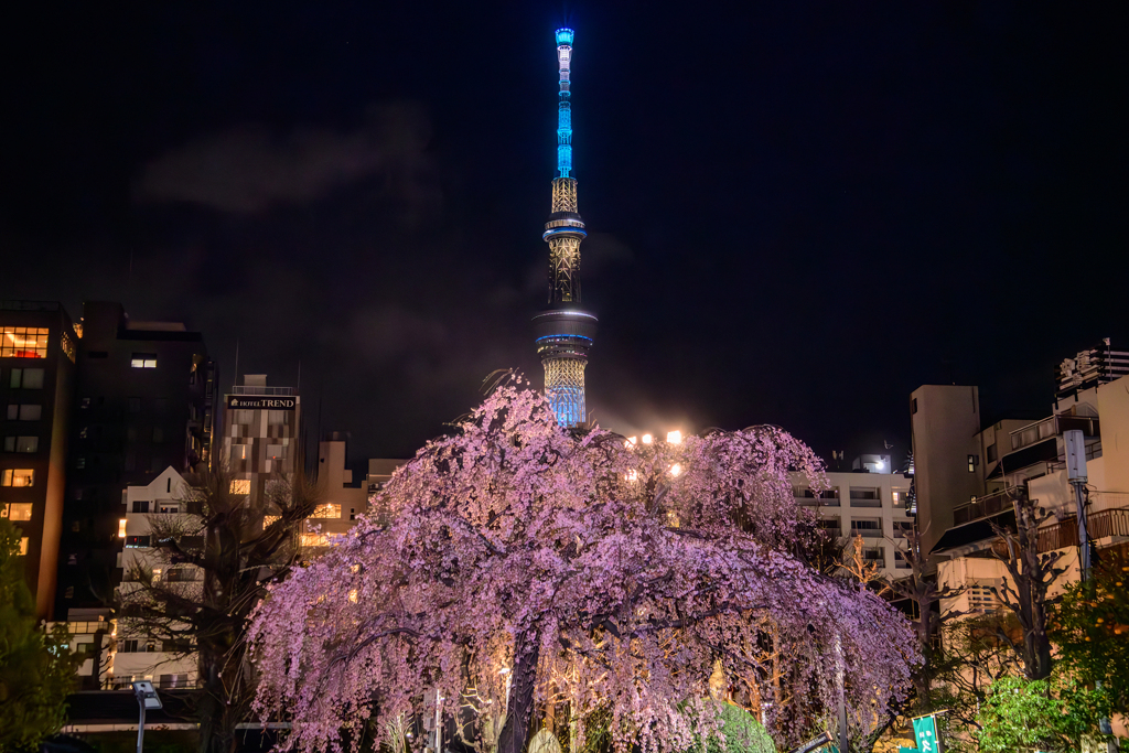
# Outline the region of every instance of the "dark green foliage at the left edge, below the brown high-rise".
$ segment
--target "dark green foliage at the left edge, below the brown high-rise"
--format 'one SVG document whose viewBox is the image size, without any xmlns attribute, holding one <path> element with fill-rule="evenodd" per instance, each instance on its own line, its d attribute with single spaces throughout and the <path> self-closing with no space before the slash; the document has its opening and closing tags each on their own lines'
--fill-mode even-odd
<svg viewBox="0 0 1129 753">
<path fill-rule="evenodd" d="M 19 532 L 0 519 L 0 753 L 35 750 L 63 726 L 75 666 L 65 629 L 36 625 Z"/>
</svg>

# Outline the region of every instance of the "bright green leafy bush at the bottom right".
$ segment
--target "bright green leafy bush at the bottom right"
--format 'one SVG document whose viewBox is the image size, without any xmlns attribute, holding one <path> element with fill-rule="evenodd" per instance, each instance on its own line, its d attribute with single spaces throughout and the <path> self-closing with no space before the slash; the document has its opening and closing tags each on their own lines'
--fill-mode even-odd
<svg viewBox="0 0 1129 753">
<path fill-rule="evenodd" d="M 1077 751 L 1096 735 L 1109 697 L 1056 671 L 1047 680 L 1004 677 L 992 683 L 977 717 L 981 753 Z"/>
</svg>

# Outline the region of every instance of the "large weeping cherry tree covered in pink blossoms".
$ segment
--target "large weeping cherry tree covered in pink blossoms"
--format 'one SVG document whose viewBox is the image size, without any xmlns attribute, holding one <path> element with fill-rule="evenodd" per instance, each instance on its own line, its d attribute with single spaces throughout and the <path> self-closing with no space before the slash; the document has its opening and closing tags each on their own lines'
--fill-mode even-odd
<svg viewBox="0 0 1129 753">
<path fill-rule="evenodd" d="M 480 750 L 519 753 L 566 701 L 580 737 L 607 709 L 621 750 L 654 753 L 716 724 L 720 663 L 781 743 L 834 724 L 841 671 L 866 734 L 904 697 L 913 634 L 803 562 L 794 471 L 824 482 L 781 429 L 630 446 L 566 430 L 514 377 L 393 476 L 384 515 L 273 586 L 250 632 L 256 710 L 292 721 L 283 747 L 338 748 L 374 717 L 434 715 L 437 690 Z"/>
</svg>

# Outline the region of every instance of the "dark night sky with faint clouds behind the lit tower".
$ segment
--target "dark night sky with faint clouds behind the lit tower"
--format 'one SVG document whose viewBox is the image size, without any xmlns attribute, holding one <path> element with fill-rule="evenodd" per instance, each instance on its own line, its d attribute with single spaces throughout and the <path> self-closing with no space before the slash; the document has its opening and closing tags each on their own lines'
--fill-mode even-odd
<svg viewBox="0 0 1129 753">
<path fill-rule="evenodd" d="M 53 9 L 52 9 L 53 8 Z M 0 297 L 124 303 L 312 438 L 406 456 L 516 367 L 576 29 L 575 165 L 624 434 L 909 443 L 1129 349 L 1126 3 L 86 2 L 6 14 Z"/>
</svg>

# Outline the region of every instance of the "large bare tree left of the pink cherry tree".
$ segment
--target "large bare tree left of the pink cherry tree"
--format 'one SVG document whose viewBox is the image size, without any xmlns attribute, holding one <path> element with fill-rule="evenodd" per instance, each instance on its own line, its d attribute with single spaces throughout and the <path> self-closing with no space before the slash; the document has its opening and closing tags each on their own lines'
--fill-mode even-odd
<svg viewBox="0 0 1129 753">
<path fill-rule="evenodd" d="M 119 598 L 123 630 L 195 653 L 201 688 L 194 703 L 201 753 L 235 750 L 235 726 L 254 697 L 244 636 L 265 586 L 298 563 L 298 531 L 314 511 L 314 489 L 301 475 L 268 482 L 263 504 L 231 493 L 225 470 L 202 474 L 189 498 L 190 515 L 149 517 L 156 561 L 126 572 Z M 265 516 L 265 517 L 264 517 Z M 194 579 L 154 577 L 158 563 L 186 564 Z"/>
</svg>

